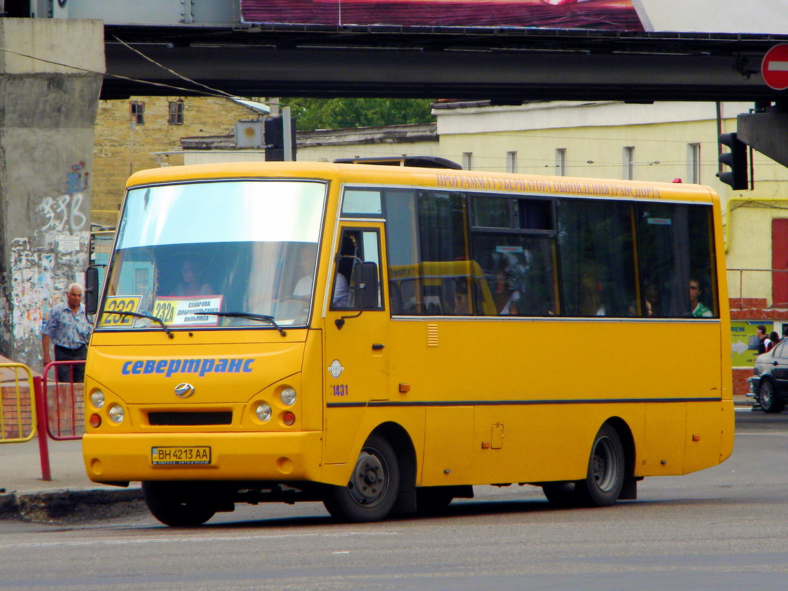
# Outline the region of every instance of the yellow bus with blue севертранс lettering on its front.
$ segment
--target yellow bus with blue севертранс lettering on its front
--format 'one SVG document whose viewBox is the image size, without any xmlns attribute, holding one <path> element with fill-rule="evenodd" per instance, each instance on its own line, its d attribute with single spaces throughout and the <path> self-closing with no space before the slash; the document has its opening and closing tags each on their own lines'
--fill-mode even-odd
<svg viewBox="0 0 788 591">
<path fill-rule="evenodd" d="M 714 191 L 420 164 L 132 175 L 86 273 L 91 480 L 171 526 L 368 522 L 474 485 L 606 506 L 730 455 Z"/>
</svg>

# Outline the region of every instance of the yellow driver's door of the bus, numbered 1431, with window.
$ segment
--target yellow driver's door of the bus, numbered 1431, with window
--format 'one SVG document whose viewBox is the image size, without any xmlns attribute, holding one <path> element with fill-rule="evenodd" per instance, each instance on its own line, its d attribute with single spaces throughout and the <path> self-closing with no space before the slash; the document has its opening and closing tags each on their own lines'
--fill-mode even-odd
<svg viewBox="0 0 788 591">
<path fill-rule="evenodd" d="M 382 223 L 342 224 L 325 327 L 325 463 L 345 463 L 367 403 L 388 400 L 388 322 Z M 377 265 L 377 307 L 359 310 L 362 262 Z"/>
</svg>

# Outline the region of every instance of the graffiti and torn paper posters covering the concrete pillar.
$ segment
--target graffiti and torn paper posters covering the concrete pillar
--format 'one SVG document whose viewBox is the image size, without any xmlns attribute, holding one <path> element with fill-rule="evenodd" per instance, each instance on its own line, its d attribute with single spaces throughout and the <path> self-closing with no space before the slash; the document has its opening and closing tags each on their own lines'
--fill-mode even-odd
<svg viewBox="0 0 788 591">
<path fill-rule="evenodd" d="M 65 290 L 82 282 L 90 240 L 88 173 L 72 165 L 58 196 L 44 195 L 35 206 L 29 238 L 10 244 L 13 339 L 31 349 L 41 338 L 50 307 L 65 301 Z M 40 344 L 33 359 L 40 359 Z M 33 359 L 25 359 L 31 363 Z"/>
</svg>

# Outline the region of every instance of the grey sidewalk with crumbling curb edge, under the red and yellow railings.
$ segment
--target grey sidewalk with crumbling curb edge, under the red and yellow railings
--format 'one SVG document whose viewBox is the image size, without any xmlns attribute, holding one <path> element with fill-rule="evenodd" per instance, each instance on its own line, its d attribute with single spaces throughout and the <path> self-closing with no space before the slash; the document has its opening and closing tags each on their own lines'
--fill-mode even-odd
<svg viewBox="0 0 788 591">
<path fill-rule="evenodd" d="M 41 478 L 37 438 L 26 443 L 0 444 L 0 519 L 22 516 L 48 521 L 142 499 L 139 483 L 122 489 L 99 485 L 87 478 L 81 440 L 49 440 L 47 444 L 50 481 Z"/>
</svg>

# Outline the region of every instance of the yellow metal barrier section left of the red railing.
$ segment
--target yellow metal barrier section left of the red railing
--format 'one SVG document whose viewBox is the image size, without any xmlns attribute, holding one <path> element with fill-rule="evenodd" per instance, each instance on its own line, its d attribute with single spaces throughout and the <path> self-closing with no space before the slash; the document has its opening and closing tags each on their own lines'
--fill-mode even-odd
<svg viewBox="0 0 788 591">
<path fill-rule="evenodd" d="M 20 380 L 20 371 L 27 377 Z M 0 363 L 0 374 L 0 444 L 32 440 L 36 426 L 33 374 L 24 363 Z"/>
</svg>

